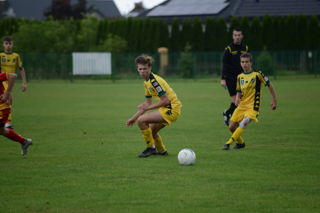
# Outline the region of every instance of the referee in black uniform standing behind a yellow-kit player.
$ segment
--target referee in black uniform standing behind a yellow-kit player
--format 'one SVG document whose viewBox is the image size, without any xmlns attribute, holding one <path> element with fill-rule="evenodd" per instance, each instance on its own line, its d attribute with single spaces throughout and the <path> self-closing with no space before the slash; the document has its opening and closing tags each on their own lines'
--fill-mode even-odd
<svg viewBox="0 0 320 213">
<path fill-rule="evenodd" d="M 248 46 L 241 43 L 243 32 L 241 28 L 235 28 L 232 33 L 233 43 L 226 47 L 222 57 L 222 79 L 221 86 L 227 87 L 231 96 L 231 105 L 228 110 L 222 112 L 224 123 L 229 126 L 229 120 L 236 109 L 236 86 L 237 76 L 243 72 L 240 65 L 240 56 L 248 51 Z"/>
</svg>

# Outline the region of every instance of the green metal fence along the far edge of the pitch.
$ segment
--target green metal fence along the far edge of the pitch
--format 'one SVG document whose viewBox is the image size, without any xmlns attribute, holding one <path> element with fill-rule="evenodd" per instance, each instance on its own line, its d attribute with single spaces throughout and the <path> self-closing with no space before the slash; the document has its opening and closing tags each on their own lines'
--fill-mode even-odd
<svg viewBox="0 0 320 213">
<path fill-rule="evenodd" d="M 251 52 L 252 67 L 267 76 L 317 76 L 320 72 L 320 50 L 317 51 L 256 51 Z M 111 75 L 72 74 L 72 54 L 22 53 L 20 54 L 27 80 L 41 79 L 120 79 L 140 78 L 135 67 L 139 53 L 115 53 L 111 56 Z M 166 78 L 204 79 L 220 78 L 222 52 L 169 52 L 166 63 L 160 61 L 160 53 L 150 54 L 155 58 L 152 72 Z M 164 64 L 164 65 L 163 65 Z"/>
</svg>

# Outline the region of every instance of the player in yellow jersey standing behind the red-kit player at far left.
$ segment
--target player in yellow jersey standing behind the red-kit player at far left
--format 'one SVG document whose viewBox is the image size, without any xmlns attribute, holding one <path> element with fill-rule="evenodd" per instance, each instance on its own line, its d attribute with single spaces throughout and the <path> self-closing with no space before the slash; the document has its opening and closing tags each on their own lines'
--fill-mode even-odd
<svg viewBox="0 0 320 213">
<path fill-rule="evenodd" d="M 22 67 L 21 58 L 18 53 L 12 52 L 13 39 L 11 36 L 5 36 L 3 40 L 4 51 L 0 52 L 0 68 L 1 73 L 16 73 L 17 66 L 20 69 L 20 75 L 22 78 L 21 90 L 22 92 L 27 90 L 26 72 Z M 8 88 L 8 81 L 3 82 L 4 89 Z M 12 106 L 12 91 L 9 98 L 9 104 Z M 5 124 L 5 128 L 12 129 L 11 127 L 11 113 L 9 115 L 9 122 Z"/>
</svg>

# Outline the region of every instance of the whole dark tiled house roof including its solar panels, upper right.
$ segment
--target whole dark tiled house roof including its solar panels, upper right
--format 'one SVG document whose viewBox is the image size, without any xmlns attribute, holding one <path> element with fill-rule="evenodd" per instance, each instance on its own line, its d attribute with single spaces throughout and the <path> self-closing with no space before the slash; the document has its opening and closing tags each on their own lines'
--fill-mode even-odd
<svg viewBox="0 0 320 213">
<path fill-rule="evenodd" d="M 172 4 L 173 2 L 179 3 L 179 5 Z M 214 3 L 216 5 L 224 3 L 226 6 L 221 7 L 221 10 L 211 10 L 212 13 L 210 11 L 196 13 L 193 10 L 187 15 L 184 11 L 181 12 L 180 10 L 182 7 L 187 9 L 188 7 L 186 6 L 190 4 L 195 6 L 199 4 L 214 5 Z M 170 5 L 172 9 L 170 9 Z M 171 23 L 175 17 L 178 17 L 182 21 L 183 19 L 192 20 L 195 16 L 198 16 L 204 22 L 207 17 L 218 19 L 222 16 L 229 21 L 232 15 L 239 18 L 247 15 L 249 18 L 253 18 L 256 16 L 264 17 L 267 12 L 271 16 L 275 16 L 276 14 L 279 16 L 288 16 L 289 14 L 297 16 L 300 13 L 305 13 L 307 16 L 312 14 L 320 16 L 320 0 L 166 0 L 154 8 L 141 13 L 139 16 L 141 18 L 160 17 L 168 23 Z"/>
</svg>

